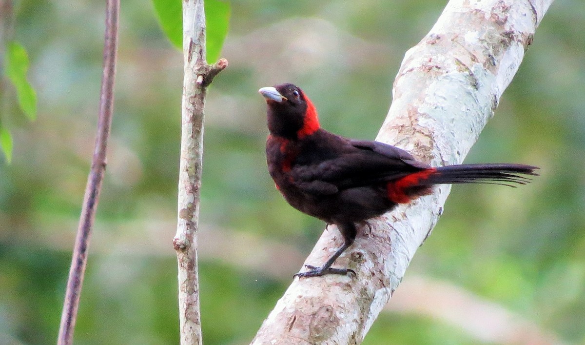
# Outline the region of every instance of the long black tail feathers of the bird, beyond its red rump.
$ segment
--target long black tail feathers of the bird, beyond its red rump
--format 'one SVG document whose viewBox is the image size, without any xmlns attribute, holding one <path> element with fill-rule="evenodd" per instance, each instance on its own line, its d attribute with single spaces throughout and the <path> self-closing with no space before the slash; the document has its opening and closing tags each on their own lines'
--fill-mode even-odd
<svg viewBox="0 0 585 345">
<path fill-rule="evenodd" d="M 538 176 L 534 170 L 536 166 L 523 164 L 488 163 L 449 165 L 436 168 L 429 174 L 425 183 L 490 183 L 515 187 L 514 183 L 525 185 L 532 179 L 528 176 Z"/>
</svg>

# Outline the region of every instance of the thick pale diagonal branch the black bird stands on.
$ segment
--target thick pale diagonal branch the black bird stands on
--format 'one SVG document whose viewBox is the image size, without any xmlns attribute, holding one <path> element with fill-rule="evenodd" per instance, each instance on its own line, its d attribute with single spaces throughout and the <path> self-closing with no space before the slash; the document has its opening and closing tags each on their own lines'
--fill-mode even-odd
<svg viewBox="0 0 585 345">
<path fill-rule="evenodd" d="M 452 0 L 410 49 L 394 81 L 394 100 L 377 140 L 432 165 L 461 163 L 494 114 L 552 0 Z M 370 221 L 336 262 L 357 272 L 295 279 L 253 344 L 360 343 L 400 283 L 449 194 L 436 189 Z M 307 263 L 340 245 L 329 227 Z"/>
</svg>

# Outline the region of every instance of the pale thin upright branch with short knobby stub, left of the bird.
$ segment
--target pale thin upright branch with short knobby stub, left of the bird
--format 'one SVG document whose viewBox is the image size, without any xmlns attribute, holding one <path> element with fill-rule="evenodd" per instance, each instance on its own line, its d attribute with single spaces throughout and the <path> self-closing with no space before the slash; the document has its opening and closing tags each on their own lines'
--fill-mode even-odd
<svg viewBox="0 0 585 345">
<path fill-rule="evenodd" d="M 181 344 L 201 344 L 197 231 L 203 156 L 203 120 L 207 86 L 228 66 L 225 59 L 205 62 L 203 0 L 183 1 L 183 100 L 178 183 L 177 251 Z"/>
</svg>

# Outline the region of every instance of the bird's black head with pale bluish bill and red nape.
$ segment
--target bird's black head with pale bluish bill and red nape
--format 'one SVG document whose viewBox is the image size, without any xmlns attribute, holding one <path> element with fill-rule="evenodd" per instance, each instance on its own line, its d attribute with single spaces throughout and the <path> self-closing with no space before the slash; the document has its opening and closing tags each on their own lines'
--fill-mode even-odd
<svg viewBox="0 0 585 345">
<path fill-rule="evenodd" d="M 300 87 L 280 84 L 258 92 L 266 98 L 270 134 L 298 139 L 319 129 L 315 106 Z"/>
</svg>

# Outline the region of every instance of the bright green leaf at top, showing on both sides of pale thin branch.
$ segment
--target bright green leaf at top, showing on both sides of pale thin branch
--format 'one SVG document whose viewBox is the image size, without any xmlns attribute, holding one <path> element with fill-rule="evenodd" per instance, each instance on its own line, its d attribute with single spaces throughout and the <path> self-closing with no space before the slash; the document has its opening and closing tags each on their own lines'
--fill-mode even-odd
<svg viewBox="0 0 585 345">
<path fill-rule="evenodd" d="M 183 49 L 183 2 L 180 0 L 153 0 L 154 12 L 163 32 L 177 49 Z M 205 26 L 207 28 L 207 60 L 215 62 L 219 58 L 223 40 L 228 35 L 230 6 L 229 2 L 205 0 Z"/>
</svg>

